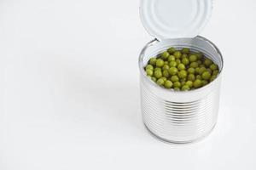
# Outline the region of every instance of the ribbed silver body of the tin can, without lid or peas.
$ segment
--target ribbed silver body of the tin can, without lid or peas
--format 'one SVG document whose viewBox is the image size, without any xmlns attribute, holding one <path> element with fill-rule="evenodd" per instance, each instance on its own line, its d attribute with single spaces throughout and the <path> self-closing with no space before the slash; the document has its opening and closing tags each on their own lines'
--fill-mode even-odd
<svg viewBox="0 0 256 170">
<path fill-rule="evenodd" d="M 144 71 L 148 59 L 169 47 L 201 51 L 218 64 L 218 77 L 207 86 L 192 91 L 176 92 L 160 88 Z M 150 133 L 166 142 L 186 144 L 209 134 L 218 119 L 219 91 L 223 58 L 218 48 L 204 37 L 153 40 L 139 57 L 143 122 Z"/>
</svg>

